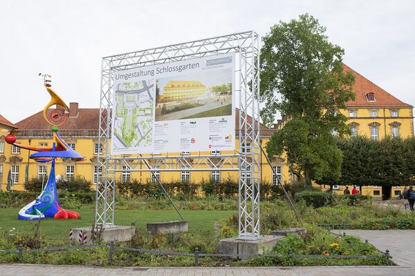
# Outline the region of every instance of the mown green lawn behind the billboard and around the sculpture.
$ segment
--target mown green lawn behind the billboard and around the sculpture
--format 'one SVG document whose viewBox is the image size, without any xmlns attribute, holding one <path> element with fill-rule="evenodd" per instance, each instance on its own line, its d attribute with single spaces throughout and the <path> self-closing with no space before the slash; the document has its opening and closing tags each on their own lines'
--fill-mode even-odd
<svg viewBox="0 0 415 276">
<path fill-rule="evenodd" d="M 42 221 L 42 234 L 47 240 L 67 240 L 70 228 L 92 226 L 94 210 L 76 210 L 81 219 L 44 219 Z M 33 233 L 34 221 L 17 219 L 17 208 L 0 209 L 0 231 L 8 231 L 16 228 L 19 233 Z M 189 232 L 196 230 L 209 230 L 213 233 L 214 221 L 230 217 L 232 210 L 181 210 L 185 220 L 189 221 Z M 175 210 L 116 210 L 115 223 L 118 225 L 130 225 L 136 221 L 141 229 L 146 228 L 147 222 L 179 220 Z"/>
</svg>

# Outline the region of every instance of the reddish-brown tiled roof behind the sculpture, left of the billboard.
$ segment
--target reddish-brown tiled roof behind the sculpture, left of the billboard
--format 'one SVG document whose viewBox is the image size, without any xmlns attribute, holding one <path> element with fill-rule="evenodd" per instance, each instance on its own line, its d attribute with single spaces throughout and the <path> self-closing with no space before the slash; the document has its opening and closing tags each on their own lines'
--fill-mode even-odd
<svg viewBox="0 0 415 276">
<path fill-rule="evenodd" d="M 48 110 L 48 114 L 52 109 Z M 59 135 L 63 137 L 98 137 L 100 121 L 99 108 L 78 108 L 76 117 L 67 117 L 62 126 L 59 126 Z M 18 137 L 48 137 L 52 135 L 52 126 L 46 123 L 43 110 L 16 123 L 19 128 Z"/>
</svg>

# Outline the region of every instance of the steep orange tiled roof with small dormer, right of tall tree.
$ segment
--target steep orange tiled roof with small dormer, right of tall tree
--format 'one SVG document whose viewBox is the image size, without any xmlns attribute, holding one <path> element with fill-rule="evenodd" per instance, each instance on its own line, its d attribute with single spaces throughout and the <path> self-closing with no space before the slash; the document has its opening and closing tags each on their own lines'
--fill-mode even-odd
<svg viewBox="0 0 415 276">
<path fill-rule="evenodd" d="M 396 99 L 396 97 L 390 95 L 387 91 L 369 81 L 369 79 L 366 79 L 346 64 L 343 64 L 343 68 L 344 72 L 351 72 L 355 76 L 353 92 L 356 93 L 356 99 L 354 101 L 347 101 L 347 107 L 413 107 Z M 375 101 L 367 100 L 367 94 L 369 93 L 374 94 Z"/>
</svg>

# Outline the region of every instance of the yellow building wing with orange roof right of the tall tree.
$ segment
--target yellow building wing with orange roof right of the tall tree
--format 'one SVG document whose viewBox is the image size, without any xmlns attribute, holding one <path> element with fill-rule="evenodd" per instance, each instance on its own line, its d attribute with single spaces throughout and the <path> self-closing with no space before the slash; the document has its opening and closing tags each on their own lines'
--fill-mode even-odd
<svg viewBox="0 0 415 276">
<path fill-rule="evenodd" d="M 413 106 L 400 101 L 389 92 L 369 81 L 355 70 L 344 65 L 346 72 L 355 76 L 353 92 L 354 101 L 346 103 L 347 109 L 340 110 L 348 117 L 352 136 L 362 135 L 374 140 L 391 137 L 412 137 L 414 135 Z M 343 193 L 344 186 L 334 186 L 335 193 Z M 362 186 L 362 195 L 382 197 L 390 194 L 397 197 L 403 187 Z"/>
</svg>

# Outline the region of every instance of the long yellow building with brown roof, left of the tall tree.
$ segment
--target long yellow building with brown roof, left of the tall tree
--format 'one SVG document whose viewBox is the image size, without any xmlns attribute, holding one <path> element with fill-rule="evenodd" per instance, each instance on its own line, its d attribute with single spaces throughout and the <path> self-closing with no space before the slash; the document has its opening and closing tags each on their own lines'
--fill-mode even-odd
<svg viewBox="0 0 415 276">
<path fill-rule="evenodd" d="M 91 188 L 95 188 L 95 183 L 100 175 L 98 172 L 98 150 L 100 146 L 98 144 L 98 108 L 78 108 L 77 103 L 70 104 L 70 113 L 68 119 L 64 125 L 59 126 L 59 135 L 64 139 L 68 146 L 75 149 L 80 155 L 85 157 L 85 161 L 80 162 L 65 162 L 62 159 L 58 159 L 55 164 L 55 175 L 57 178 L 69 179 L 77 175 L 85 177 L 91 181 Z M 15 135 L 19 144 L 28 144 L 32 146 L 50 146 L 53 143 L 51 127 L 43 122 L 42 112 L 37 112 L 22 121 L 19 121 L 16 126 L 19 128 Z M 6 130 L 4 135 L 7 135 L 10 130 Z M 261 145 L 265 148 L 266 143 L 270 139 L 270 135 L 273 133 L 273 129 L 261 126 Z M 236 131 L 236 135 L 239 131 Z M 239 139 L 236 141 L 236 152 L 238 151 Z M 247 145 L 248 146 L 248 145 Z M 24 190 L 24 183 L 28 179 L 37 177 L 44 179 L 46 183 L 45 175 L 48 175 L 50 170 L 50 164 L 44 164 L 29 159 L 29 155 L 33 152 L 28 150 L 18 149 L 13 151 L 11 145 L 6 146 L 4 155 L 6 159 L 14 160 L 13 168 L 18 168 L 19 173 L 13 180 L 12 190 Z M 169 152 L 169 155 L 208 155 L 208 154 L 229 154 L 232 155 L 233 151 L 222 152 Z M 194 163 L 198 160 L 193 159 Z M 232 159 L 234 166 L 237 166 L 237 158 Z M 273 160 L 273 166 L 277 171 L 277 175 L 273 175 L 273 170 L 270 168 L 266 161 L 266 157 L 261 154 L 260 156 L 260 170 L 261 179 L 268 183 L 276 183 L 277 177 L 283 182 L 291 181 L 291 174 L 288 172 L 288 166 L 285 160 L 282 158 L 275 158 Z M 26 166 L 28 166 L 26 173 Z M 144 165 L 142 166 L 145 167 Z M 200 166 L 199 166 L 200 167 Z M 226 167 L 226 166 L 225 166 Z M 230 167 L 228 165 L 228 167 Z M 10 170 L 10 164 L 6 164 L 3 170 Z M 208 167 L 206 167 L 208 168 Z M 140 182 L 151 181 L 151 172 L 130 172 L 128 166 L 122 166 L 122 172 L 117 172 L 116 179 L 118 181 L 127 181 L 129 179 L 136 179 Z M 192 183 L 200 182 L 202 179 L 215 179 L 215 181 L 221 181 L 228 177 L 237 181 L 238 172 L 219 172 L 219 171 L 183 171 L 183 172 L 156 172 L 160 181 L 191 181 Z M 26 177 L 27 175 L 27 177 Z M 4 177 L 3 177 L 4 178 Z M 1 185 L 2 190 L 6 190 L 6 183 Z"/>
</svg>

